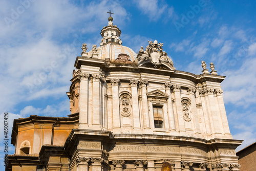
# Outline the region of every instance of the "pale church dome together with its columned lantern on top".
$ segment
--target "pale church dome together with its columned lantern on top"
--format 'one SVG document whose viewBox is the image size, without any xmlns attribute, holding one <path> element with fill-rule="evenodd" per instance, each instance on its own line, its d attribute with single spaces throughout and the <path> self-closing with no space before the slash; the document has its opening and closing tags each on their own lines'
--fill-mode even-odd
<svg viewBox="0 0 256 171">
<path fill-rule="evenodd" d="M 128 60 L 134 61 L 137 53 L 131 48 L 122 46 L 122 40 L 119 38 L 121 30 L 112 22 L 113 18 L 109 18 L 108 26 L 103 27 L 101 30 L 101 43 L 100 47 L 93 46 L 92 50 L 88 52 L 88 57 L 93 55 L 99 59 L 114 62 L 118 57 L 125 56 Z"/>
</svg>

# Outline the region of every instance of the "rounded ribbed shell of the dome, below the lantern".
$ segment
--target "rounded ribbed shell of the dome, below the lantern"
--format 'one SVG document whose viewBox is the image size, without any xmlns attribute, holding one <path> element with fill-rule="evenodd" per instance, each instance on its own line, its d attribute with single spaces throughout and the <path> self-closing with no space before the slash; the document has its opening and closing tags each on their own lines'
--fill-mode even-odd
<svg viewBox="0 0 256 171">
<path fill-rule="evenodd" d="M 117 59 L 119 54 L 129 55 L 132 61 L 134 61 L 137 56 L 137 54 L 131 48 L 115 43 L 105 44 L 96 49 L 96 54 L 98 54 L 99 59 L 109 59 L 110 61 Z M 88 52 L 88 56 L 92 56 L 92 54 L 92 50 Z"/>
</svg>

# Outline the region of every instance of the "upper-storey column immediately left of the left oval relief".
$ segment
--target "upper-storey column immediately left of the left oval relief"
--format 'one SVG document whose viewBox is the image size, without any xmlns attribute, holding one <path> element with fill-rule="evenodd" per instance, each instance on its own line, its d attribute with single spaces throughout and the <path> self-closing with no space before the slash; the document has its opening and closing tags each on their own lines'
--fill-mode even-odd
<svg viewBox="0 0 256 171">
<path fill-rule="evenodd" d="M 121 127 L 119 112 L 119 79 L 111 79 L 112 84 L 112 101 L 113 101 L 113 129 Z"/>
</svg>

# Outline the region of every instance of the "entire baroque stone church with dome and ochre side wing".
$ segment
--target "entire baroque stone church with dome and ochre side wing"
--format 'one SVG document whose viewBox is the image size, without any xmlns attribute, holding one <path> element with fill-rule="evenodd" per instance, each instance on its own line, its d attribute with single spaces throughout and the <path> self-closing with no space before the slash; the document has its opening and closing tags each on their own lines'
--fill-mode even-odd
<svg viewBox="0 0 256 171">
<path fill-rule="evenodd" d="M 112 23 L 75 60 L 68 117 L 15 119 L 9 170 L 239 170 L 214 64 L 176 70 L 163 44 L 135 53 Z M 169 164 L 168 164 L 169 163 Z"/>
</svg>

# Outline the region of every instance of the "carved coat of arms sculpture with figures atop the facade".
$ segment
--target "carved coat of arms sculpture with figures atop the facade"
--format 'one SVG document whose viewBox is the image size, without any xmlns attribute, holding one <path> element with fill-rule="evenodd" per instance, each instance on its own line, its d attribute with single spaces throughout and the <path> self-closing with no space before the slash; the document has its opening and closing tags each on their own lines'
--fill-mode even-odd
<svg viewBox="0 0 256 171">
<path fill-rule="evenodd" d="M 167 56 L 166 52 L 163 52 L 162 46 L 163 44 L 158 43 L 157 40 L 154 42 L 148 41 L 148 45 L 145 51 L 143 47 L 140 48 L 140 51 L 137 55 L 138 64 L 144 60 L 150 59 L 155 68 L 161 64 L 161 61 L 167 62 L 173 66 L 172 59 Z"/>
</svg>

